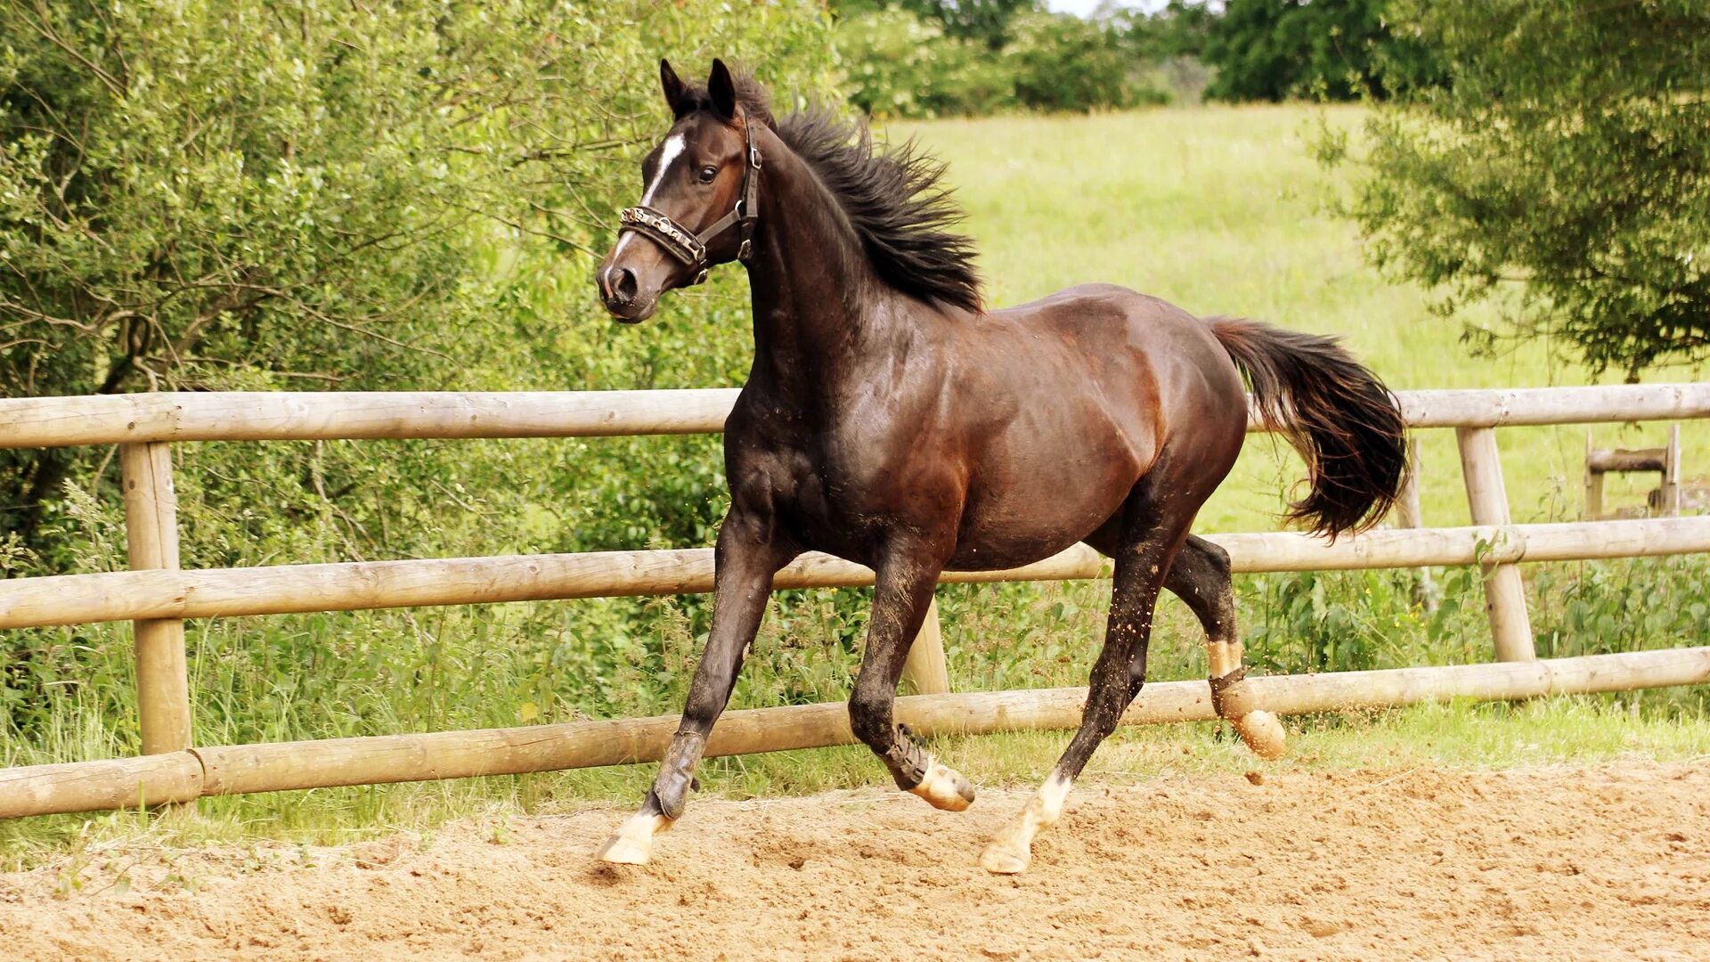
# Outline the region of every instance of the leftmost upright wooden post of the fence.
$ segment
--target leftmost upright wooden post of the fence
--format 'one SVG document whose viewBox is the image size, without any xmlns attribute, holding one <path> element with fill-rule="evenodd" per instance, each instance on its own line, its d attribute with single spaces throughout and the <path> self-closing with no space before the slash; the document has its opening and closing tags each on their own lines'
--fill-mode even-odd
<svg viewBox="0 0 1710 962">
<path fill-rule="evenodd" d="M 132 570 L 178 570 L 178 495 L 173 448 L 166 442 L 118 448 L 125 484 L 125 536 Z M 185 623 L 176 618 L 135 621 L 137 719 L 142 753 L 190 748 L 190 680 Z"/>
</svg>

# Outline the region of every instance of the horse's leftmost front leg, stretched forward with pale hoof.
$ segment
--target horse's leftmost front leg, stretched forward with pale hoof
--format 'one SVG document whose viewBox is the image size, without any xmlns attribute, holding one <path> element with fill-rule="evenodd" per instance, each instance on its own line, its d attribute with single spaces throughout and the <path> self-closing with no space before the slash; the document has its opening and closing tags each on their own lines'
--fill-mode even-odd
<svg viewBox="0 0 1710 962">
<path fill-rule="evenodd" d="M 713 628 L 701 662 L 694 668 L 694 681 L 689 683 L 682 724 L 660 760 L 658 777 L 641 808 L 600 846 L 602 861 L 645 864 L 653 852 L 653 835 L 669 830 L 682 817 L 706 736 L 730 702 L 742 659 L 766 615 L 771 579 L 795 555 L 797 549 L 783 543 L 764 519 L 735 507 L 725 515 L 713 551 Z"/>
</svg>

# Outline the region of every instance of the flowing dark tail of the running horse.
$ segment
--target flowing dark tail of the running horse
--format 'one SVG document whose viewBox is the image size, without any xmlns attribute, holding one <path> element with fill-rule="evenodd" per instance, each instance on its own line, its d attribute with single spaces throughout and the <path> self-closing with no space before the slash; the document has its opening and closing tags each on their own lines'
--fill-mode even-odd
<svg viewBox="0 0 1710 962">
<path fill-rule="evenodd" d="M 1312 491 L 1288 517 L 1332 539 L 1377 524 L 1407 471 L 1407 425 L 1383 382 L 1334 337 L 1241 318 L 1214 318 L 1211 330 L 1252 385 L 1265 426 L 1306 459 Z"/>
</svg>

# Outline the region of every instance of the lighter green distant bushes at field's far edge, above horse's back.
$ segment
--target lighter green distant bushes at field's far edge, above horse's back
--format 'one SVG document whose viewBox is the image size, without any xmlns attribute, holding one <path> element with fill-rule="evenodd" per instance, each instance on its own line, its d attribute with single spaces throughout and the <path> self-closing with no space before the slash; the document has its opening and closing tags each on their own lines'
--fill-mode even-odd
<svg viewBox="0 0 1710 962">
<path fill-rule="evenodd" d="M 1120 110 L 1170 98 L 1120 22 L 1029 12 L 994 50 L 889 7 L 838 22 L 848 101 L 879 116 Z"/>
</svg>

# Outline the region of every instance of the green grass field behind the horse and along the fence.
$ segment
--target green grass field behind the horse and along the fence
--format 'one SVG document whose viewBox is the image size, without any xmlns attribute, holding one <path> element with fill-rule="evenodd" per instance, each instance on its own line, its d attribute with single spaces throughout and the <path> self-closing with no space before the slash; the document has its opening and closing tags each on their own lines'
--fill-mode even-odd
<svg viewBox="0 0 1710 962">
<path fill-rule="evenodd" d="M 1318 116 L 1306 108 L 1165 110 L 1093 118 L 995 118 L 894 127 L 951 164 L 983 250 L 995 305 L 1081 281 L 1113 281 L 1195 313 L 1267 318 L 1347 339 L 1392 387 L 1518 387 L 1585 383 L 1583 370 L 1542 346 L 1467 358 L 1459 330 L 1426 312 L 1426 296 L 1387 282 L 1359 255 L 1353 229 L 1327 202 L 1339 188 L 1310 159 Z M 1332 110 L 1332 125 L 1358 123 Z M 1654 380 L 1683 380 L 1671 371 Z M 1659 443 L 1662 428 L 1599 426 L 1601 445 Z M 1500 435 L 1520 520 L 1580 510 L 1582 428 Z M 1693 428 L 1688 450 L 1705 450 Z M 1691 454 L 1688 474 L 1695 474 Z M 1281 491 L 1300 466 L 1269 440 L 1248 445 L 1236 474 L 1200 517 L 1200 531 L 1276 527 Z M 1465 524 L 1460 469 L 1448 431 L 1424 433 L 1424 514 Z M 1611 481 L 1609 502 L 1642 503 L 1640 483 Z M 91 508 L 94 510 L 94 508 Z M 116 531 L 99 519 L 91 531 Z M 121 551 L 108 544 L 115 558 Z M 284 560 L 284 558 L 280 558 Z M 91 568 L 99 568 L 92 563 Z M 1710 621 L 1703 561 L 1532 568 L 1534 626 L 1544 654 L 1695 644 Z M 1476 585 L 1447 573 L 1450 599 L 1431 616 L 1406 573 L 1243 579 L 1243 628 L 1262 671 L 1385 668 L 1488 657 Z M 1459 579 L 1459 580 L 1457 580 Z M 952 681 L 959 690 L 1081 685 L 1103 630 L 1108 585 L 952 587 L 940 592 Z M 852 596 L 805 592 L 768 621 L 734 704 L 841 698 L 855 666 L 864 606 Z M 858 601 L 858 599 L 857 599 Z M 202 743 L 277 741 L 380 731 L 422 731 L 554 721 L 588 712 L 598 690 L 609 714 L 681 705 L 696 630 L 672 603 L 636 626 L 612 616 L 628 603 L 564 603 L 202 621 L 192 626 L 193 697 Z M 629 633 L 612 633 L 619 626 Z M 663 642 L 660 642 L 663 638 Z M 67 645 L 111 650 L 106 674 L 67 690 L 72 710 L 27 745 L 0 741 L 0 763 L 94 758 L 127 751 L 115 702 L 130 705 L 123 626 L 63 635 Z M 663 666 L 646 661 L 663 647 Z M 255 652 L 265 657 L 256 661 Z M 327 664 L 344 668 L 328 671 Z M 587 666 L 598 666 L 598 678 Z M 1199 630 L 1180 604 L 1163 606 L 1153 678 L 1202 678 Z M 104 700 L 103 700 L 104 698 Z M 592 698 L 592 695 L 588 695 Z M 87 700 L 84 704 L 82 700 Z M 99 702 L 99 705 L 97 705 Z M 1633 751 L 1681 758 L 1710 753 L 1705 693 L 1560 698 L 1536 705 L 1426 707 L 1313 719 L 1282 765 L 1513 765 L 1602 760 Z M 84 707 L 77 707 L 84 705 Z M 947 753 L 985 784 L 1038 779 L 1060 733 L 947 739 Z M 1183 753 L 1183 746 L 1187 751 Z M 1250 755 L 1214 726 L 1120 734 L 1093 769 L 1144 777 L 1158 770 L 1241 769 Z M 865 750 L 730 758 L 703 772 L 708 791 L 805 793 L 884 782 Z M 287 835 L 316 840 L 388 827 L 426 827 L 487 810 L 539 810 L 588 799 L 629 803 L 652 767 L 205 799 L 202 818 L 154 823 L 197 837 Z M 27 861 L 101 834 L 135 832 L 135 815 L 0 823 L 0 861 Z"/>
</svg>

